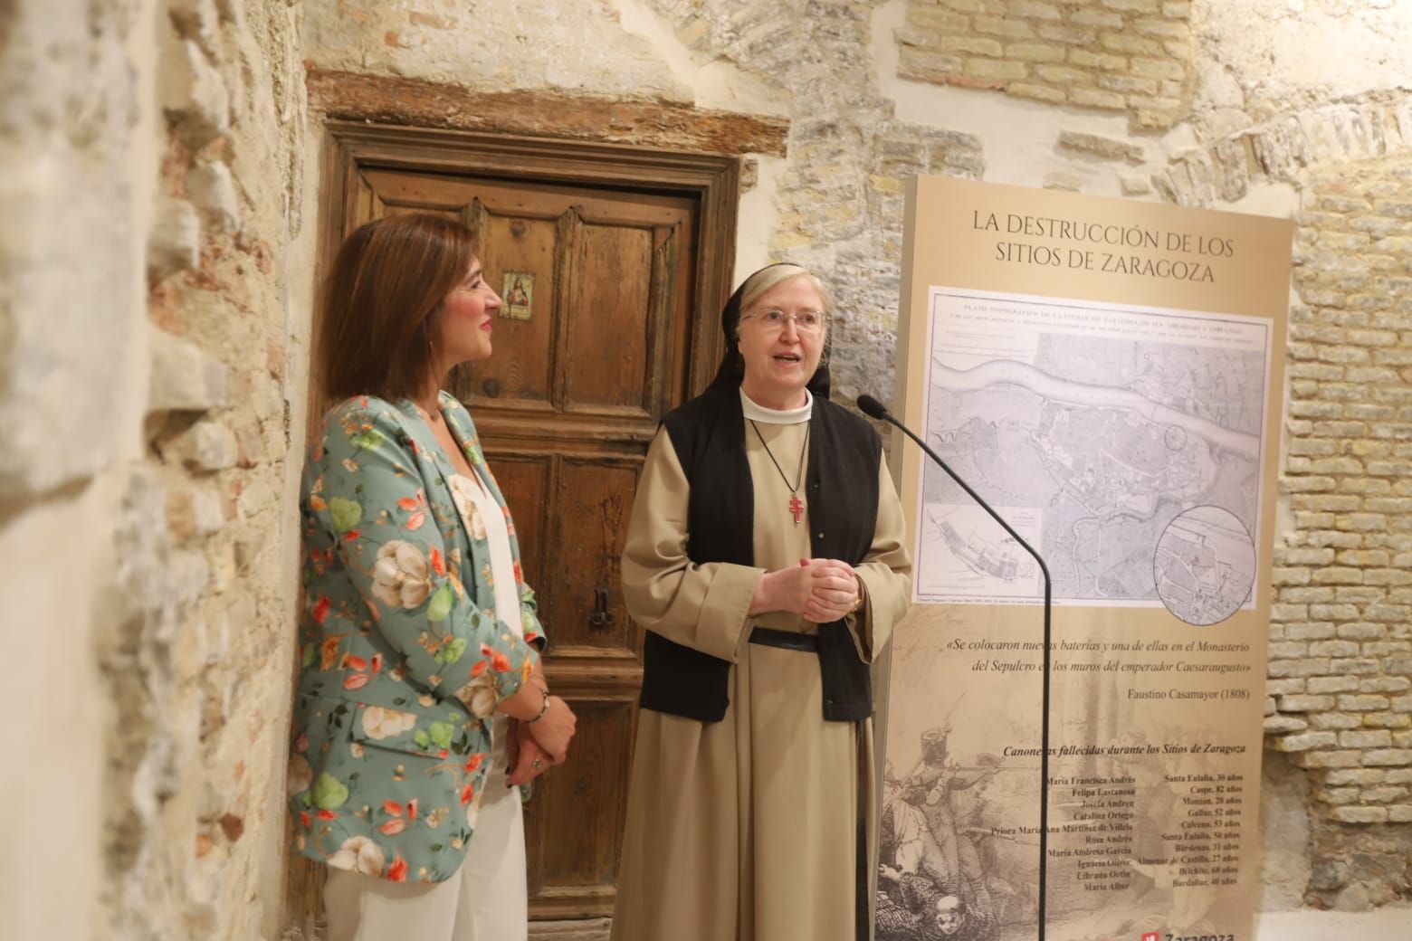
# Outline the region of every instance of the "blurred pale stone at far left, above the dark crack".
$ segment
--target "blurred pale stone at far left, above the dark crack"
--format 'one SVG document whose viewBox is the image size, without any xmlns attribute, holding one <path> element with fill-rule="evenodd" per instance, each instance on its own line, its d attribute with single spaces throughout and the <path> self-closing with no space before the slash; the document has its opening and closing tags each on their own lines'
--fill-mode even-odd
<svg viewBox="0 0 1412 941">
<path fill-rule="evenodd" d="M 123 450 L 99 406 L 136 350 L 123 317 L 93 317 L 86 300 L 136 296 L 124 250 L 136 212 L 127 161 L 140 147 L 137 63 L 127 42 L 137 41 L 140 13 L 137 1 L 0 7 L 0 159 L 7 171 L 0 178 L 7 313 L 0 419 L 11 429 L 0 454 L 0 497 L 79 484 Z M 93 199 L 54 214 L 75 189 Z M 82 244 L 97 251 L 75 264 L 73 247 Z M 109 356 L 62 340 L 80 333 Z M 49 449 L 52 429 L 93 437 L 86 447 Z"/>
</svg>

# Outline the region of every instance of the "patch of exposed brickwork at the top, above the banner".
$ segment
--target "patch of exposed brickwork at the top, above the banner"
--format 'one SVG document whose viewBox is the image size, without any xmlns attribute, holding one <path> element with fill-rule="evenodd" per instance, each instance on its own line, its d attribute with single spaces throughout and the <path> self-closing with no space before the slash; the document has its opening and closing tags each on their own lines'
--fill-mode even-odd
<svg viewBox="0 0 1412 941">
<path fill-rule="evenodd" d="M 1192 97 L 1185 0 L 933 0 L 908 4 L 898 75 L 1123 111 L 1171 127 Z"/>
</svg>

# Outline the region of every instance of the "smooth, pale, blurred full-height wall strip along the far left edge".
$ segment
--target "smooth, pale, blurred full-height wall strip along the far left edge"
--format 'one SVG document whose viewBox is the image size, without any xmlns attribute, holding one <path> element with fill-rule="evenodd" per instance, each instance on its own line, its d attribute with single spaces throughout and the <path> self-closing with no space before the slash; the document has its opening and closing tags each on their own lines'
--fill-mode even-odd
<svg viewBox="0 0 1412 941">
<path fill-rule="evenodd" d="M 92 585 L 136 451 L 150 179 L 138 4 L 0 6 L 0 935 L 88 937 L 104 885 L 106 697 Z M 150 165 L 150 164 L 148 164 Z M 151 174 L 148 174 L 148 178 Z M 85 200 L 69 200 L 82 192 Z M 134 241 L 137 247 L 134 247 Z M 62 892 L 41 892 L 45 885 Z"/>
</svg>

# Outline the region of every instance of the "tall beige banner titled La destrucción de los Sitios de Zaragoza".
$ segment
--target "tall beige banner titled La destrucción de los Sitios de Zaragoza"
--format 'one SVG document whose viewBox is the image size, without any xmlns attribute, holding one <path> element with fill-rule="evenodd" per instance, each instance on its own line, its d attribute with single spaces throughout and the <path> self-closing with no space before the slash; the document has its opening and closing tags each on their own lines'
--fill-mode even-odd
<svg viewBox="0 0 1412 941">
<path fill-rule="evenodd" d="M 923 176 L 897 415 L 1053 584 L 1046 931 L 1250 941 L 1292 224 Z M 878 941 L 1038 934 L 1042 581 L 901 436 Z"/>
</svg>

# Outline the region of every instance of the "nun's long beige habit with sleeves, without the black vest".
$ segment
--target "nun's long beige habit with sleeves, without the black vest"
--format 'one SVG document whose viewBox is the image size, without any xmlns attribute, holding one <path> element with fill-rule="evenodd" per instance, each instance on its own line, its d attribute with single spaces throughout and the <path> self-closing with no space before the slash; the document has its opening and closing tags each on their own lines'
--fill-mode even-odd
<svg viewBox="0 0 1412 941">
<path fill-rule="evenodd" d="M 816 655 L 748 643 L 757 625 L 818 629 L 778 611 L 747 617 L 767 570 L 810 554 L 808 508 L 795 525 L 784 480 L 803 480 L 810 405 L 770 412 L 741 398 L 761 433 L 747 422 L 758 567 L 686 557 L 688 482 L 665 429 L 648 450 L 633 506 L 623 553 L 628 611 L 647 629 L 734 666 L 720 722 L 641 711 L 614 941 L 856 941 L 858 813 L 871 834 L 875 807 L 873 722 L 823 720 Z M 867 601 L 850 617 L 866 660 L 887 642 L 911 587 L 885 460 L 878 478 L 873 546 L 857 566 Z"/>
</svg>

